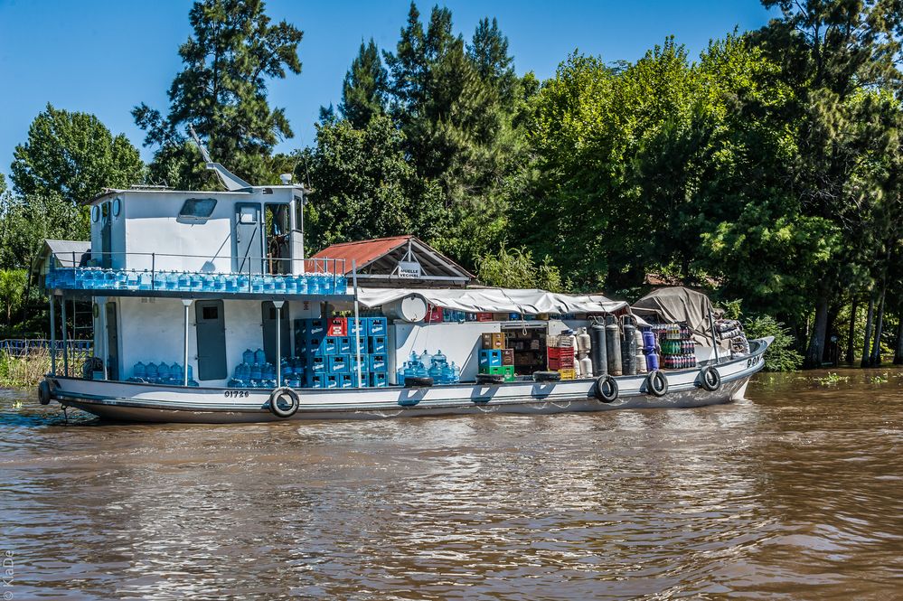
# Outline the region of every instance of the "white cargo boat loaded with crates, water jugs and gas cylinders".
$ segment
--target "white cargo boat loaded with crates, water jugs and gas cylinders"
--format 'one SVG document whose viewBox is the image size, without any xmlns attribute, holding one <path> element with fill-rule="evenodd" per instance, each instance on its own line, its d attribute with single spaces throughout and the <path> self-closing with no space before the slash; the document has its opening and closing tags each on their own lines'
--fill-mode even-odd
<svg viewBox="0 0 903 601">
<path fill-rule="evenodd" d="M 720 341 L 708 299 L 685 289 L 631 307 L 479 286 L 413 236 L 306 257 L 304 186 L 207 167 L 225 191 L 108 189 L 87 201 L 90 241 L 45 241 L 33 266 L 54 350 L 42 404 L 185 423 L 693 408 L 742 398 L 772 343 Z M 90 306 L 94 350 L 81 369 L 68 352 L 77 304 Z M 646 372 L 657 365 L 643 352 L 662 351 L 669 327 L 685 364 Z M 606 328 L 626 346 L 657 333 L 611 369 L 588 352 Z"/>
</svg>

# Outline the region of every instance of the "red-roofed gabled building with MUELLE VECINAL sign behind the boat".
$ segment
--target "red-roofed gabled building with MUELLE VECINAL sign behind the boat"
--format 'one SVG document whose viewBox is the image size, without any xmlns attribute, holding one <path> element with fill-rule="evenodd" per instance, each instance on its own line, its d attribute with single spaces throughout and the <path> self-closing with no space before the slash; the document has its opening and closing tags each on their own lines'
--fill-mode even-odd
<svg viewBox="0 0 903 601">
<path fill-rule="evenodd" d="M 310 260 L 330 258 L 345 275 L 371 286 L 466 286 L 474 275 L 416 236 L 394 236 L 343 242 L 316 253 Z M 354 264 L 355 268 L 352 268 Z"/>
</svg>

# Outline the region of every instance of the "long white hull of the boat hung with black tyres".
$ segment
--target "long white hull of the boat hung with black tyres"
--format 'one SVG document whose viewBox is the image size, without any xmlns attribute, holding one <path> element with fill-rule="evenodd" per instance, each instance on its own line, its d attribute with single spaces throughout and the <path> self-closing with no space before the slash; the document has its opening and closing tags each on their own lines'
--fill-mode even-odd
<svg viewBox="0 0 903 601">
<path fill-rule="evenodd" d="M 721 362 L 718 390 L 700 385 L 700 370 L 666 371 L 668 392 L 646 391 L 645 375 L 616 378 L 613 402 L 596 399 L 595 380 L 515 381 L 430 388 L 300 389 L 300 408 L 289 419 L 380 419 L 475 413 L 549 414 L 620 408 L 691 408 L 742 397 L 749 378 L 762 369 L 770 339 L 752 341 L 753 352 Z M 118 421 L 233 423 L 282 421 L 269 409 L 271 390 L 186 388 L 48 376 L 61 405 Z"/>
</svg>

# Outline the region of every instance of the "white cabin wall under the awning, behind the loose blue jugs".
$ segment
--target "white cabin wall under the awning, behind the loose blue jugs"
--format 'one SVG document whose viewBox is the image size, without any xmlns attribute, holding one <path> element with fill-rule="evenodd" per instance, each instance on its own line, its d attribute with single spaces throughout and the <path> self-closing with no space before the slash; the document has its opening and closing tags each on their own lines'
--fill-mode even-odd
<svg viewBox="0 0 903 601">
<path fill-rule="evenodd" d="M 498 322 L 390 324 L 389 380 L 397 383 L 395 374 L 398 366 L 408 361 L 411 351 L 419 355 L 426 349 L 431 355 L 442 351 L 449 364 L 455 362 L 461 368 L 461 381 L 474 381 L 480 371 L 479 351 L 483 348 L 483 333 L 501 331 Z"/>
</svg>

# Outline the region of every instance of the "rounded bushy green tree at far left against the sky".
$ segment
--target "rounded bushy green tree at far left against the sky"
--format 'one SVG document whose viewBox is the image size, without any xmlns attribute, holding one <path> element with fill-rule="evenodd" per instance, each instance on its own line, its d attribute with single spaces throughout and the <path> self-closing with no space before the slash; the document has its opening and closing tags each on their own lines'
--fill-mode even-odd
<svg viewBox="0 0 903 601">
<path fill-rule="evenodd" d="M 137 183 L 143 164 L 126 136 L 113 136 L 88 113 L 47 105 L 28 127 L 28 140 L 15 147 L 11 178 L 26 199 L 58 196 L 76 204 L 104 188 Z"/>
</svg>

